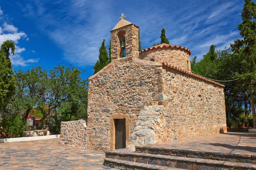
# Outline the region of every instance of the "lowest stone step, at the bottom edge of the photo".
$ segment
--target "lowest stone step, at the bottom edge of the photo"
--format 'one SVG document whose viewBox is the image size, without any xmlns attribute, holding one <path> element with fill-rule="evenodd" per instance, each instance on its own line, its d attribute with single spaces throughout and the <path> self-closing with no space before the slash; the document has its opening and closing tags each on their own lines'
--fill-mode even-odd
<svg viewBox="0 0 256 170">
<path fill-rule="evenodd" d="M 104 165 L 121 170 L 181 170 L 173 167 L 163 167 L 159 165 L 143 164 L 120 159 L 105 158 Z"/>
</svg>

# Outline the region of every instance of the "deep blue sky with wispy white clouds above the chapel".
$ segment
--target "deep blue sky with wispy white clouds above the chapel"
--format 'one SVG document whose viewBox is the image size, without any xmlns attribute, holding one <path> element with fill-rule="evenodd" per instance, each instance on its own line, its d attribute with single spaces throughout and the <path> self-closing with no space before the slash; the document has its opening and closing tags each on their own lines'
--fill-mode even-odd
<svg viewBox="0 0 256 170">
<path fill-rule="evenodd" d="M 140 26 L 142 48 L 160 42 L 161 29 L 172 45 L 201 59 L 210 45 L 224 49 L 241 38 L 243 0 L 1 0 L 0 42 L 12 40 L 14 69 L 61 64 L 78 67 L 84 79 L 93 74 L 102 39 L 125 20 Z"/>
</svg>

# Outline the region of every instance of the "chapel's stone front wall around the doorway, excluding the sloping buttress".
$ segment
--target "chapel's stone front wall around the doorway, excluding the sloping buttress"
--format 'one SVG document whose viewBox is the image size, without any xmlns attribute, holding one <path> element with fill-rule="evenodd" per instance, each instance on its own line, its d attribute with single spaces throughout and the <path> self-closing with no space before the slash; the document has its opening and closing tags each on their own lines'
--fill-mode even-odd
<svg viewBox="0 0 256 170">
<path fill-rule="evenodd" d="M 162 65 L 125 57 L 89 78 L 88 149 L 115 149 L 113 119 L 126 119 L 126 146 L 144 106 L 158 105 Z"/>
</svg>

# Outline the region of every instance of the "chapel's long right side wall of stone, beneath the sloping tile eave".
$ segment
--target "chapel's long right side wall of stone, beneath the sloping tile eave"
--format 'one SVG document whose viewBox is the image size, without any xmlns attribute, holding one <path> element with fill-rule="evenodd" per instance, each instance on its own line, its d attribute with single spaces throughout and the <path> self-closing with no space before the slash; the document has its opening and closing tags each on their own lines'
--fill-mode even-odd
<svg viewBox="0 0 256 170">
<path fill-rule="evenodd" d="M 166 127 L 169 140 L 205 136 L 226 126 L 223 88 L 179 71 L 164 68 Z"/>
</svg>

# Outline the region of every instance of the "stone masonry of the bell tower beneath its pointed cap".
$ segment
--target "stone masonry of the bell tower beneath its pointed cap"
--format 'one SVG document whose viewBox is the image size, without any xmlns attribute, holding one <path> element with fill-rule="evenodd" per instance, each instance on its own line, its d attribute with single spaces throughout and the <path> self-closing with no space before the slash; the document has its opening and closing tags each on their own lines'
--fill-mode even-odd
<svg viewBox="0 0 256 170">
<path fill-rule="evenodd" d="M 139 27 L 134 24 L 111 31 L 111 60 L 122 55 L 120 38 L 125 34 L 126 57 L 139 58 Z"/>
</svg>

